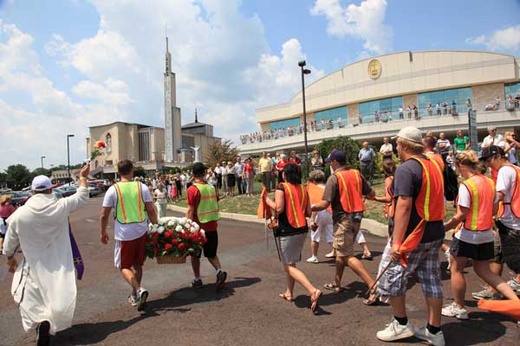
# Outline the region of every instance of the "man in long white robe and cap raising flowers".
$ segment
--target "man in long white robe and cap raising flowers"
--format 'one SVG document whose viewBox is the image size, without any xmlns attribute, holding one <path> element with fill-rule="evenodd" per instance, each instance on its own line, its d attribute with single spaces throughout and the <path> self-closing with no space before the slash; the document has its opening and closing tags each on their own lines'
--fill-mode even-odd
<svg viewBox="0 0 520 346">
<path fill-rule="evenodd" d="M 3 245 L 8 265 L 14 255 L 24 258 L 14 273 L 11 294 L 20 307 L 25 331 L 36 328 L 38 345 L 47 345 L 50 334 L 69 328 L 76 306 L 76 277 L 69 236 L 69 214 L 89 199 L 89 167 L 80 171 L 80 187 L 57 199 L 48 177 L 34 178 L 33 196 L 7 219 Z"/>
</svg>

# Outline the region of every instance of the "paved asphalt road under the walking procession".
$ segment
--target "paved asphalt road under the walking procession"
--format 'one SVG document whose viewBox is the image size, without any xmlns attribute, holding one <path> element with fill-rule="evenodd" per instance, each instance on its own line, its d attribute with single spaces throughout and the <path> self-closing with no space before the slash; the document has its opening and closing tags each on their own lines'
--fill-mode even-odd
<svg viewBox="0 0 520 346">
<path fill-rule="evenodd" d="M 228 271 L 223 292 L 214 291 L 214 272 L 207 261 L 202 267 L 207 285 L 193 290 L 189 264 L 158 265 L 149 260 L 143 280 L 150 291 L 149 304 L 140 314 L 126 303 L 129 289 L 112 265 L 113 243 L 104 246 L 99 242 L 100 204 L 100 198 L 93 198 L 71 217 L 86 272 L 78 283 L 74 325 L 58 333 L 54 345 L 384 345 L 375 333 L 389 322 L 391 309 L 388 305 L 364 306 L 366 287 L 352 271 L 346 268 L 343 279 L 349 289 L 325 292 L 319 314 L 313 316 L 301 287 L 295 289 L 294 303 L 278 298 L 285 278 L 273 244 L 267 250 L 263 224 L 239 220 L 220 222 L 219 256 Z M 384 239 L 372 235 L 367 239 L 376 258 L 364 263 L 375 276 Z M 321 254 L 328 251 L 326 246 Z M 305 247 L 303 257 L 308 255 Z M 332 261 L 298 266 L 318 287 L 333 278 Z M 480 288 L 472 270 L 467 278 L 468 293 Z M 7 281 L 0 282 L 0 345 L 32 345 L 34 333 L 23 332 Z M 444 290 L 450 302 L 447 275 Z M 448 345 L 518 345 L 520 329 L 513 320 L 480 311 L 471 300 L 467 303 L 469 321 L 443 319 Z M 407 306 L 412 323 L 424 324 L 425 304 L 418 285 L 411 287 Z M 394 344 L 411 343 L 420 340 Z"/>
</svg>

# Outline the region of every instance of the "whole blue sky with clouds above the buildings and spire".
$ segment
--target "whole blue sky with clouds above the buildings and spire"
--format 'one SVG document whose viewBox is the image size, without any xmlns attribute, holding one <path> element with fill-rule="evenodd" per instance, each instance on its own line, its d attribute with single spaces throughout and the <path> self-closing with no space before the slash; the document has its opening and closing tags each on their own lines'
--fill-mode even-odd
<svg viewBox="0 0 520 346">
<path fill-rule="evenodd" d="M 165 26 L 182 123 L 238 143 L 255 109 L 395 51 L 520 56 L 518 0 L 0 0 L 0 170 L 86 157 L 89 126 L 164 126 Z"/>
</svg>

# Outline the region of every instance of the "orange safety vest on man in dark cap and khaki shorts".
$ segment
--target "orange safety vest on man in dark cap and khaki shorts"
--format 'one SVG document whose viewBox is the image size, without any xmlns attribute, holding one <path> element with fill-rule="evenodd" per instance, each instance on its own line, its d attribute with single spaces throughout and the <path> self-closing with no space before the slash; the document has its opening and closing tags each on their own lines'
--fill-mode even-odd
<svg viewBox="0 0 520 346">
<path fill-rule="evenodd" d="M 363 203 L 363 181 L 357 169 L 334 173 L 338 179 L 341 206 L 346 213 L 365 211 Z"/>
</svg>

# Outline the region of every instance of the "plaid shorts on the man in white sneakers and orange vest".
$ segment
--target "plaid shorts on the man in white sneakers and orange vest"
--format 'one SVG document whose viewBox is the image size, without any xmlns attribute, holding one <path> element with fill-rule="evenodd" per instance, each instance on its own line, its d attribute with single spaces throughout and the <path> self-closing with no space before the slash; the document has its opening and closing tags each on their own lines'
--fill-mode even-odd
<svg viewBox="0 0 520 346">
<path fill-rule="evenodd" d="M 383 296 L 397 297 L 406 294 L 408 275 L 415 274 L 421 284 L 424 295 L 428 298 L 442 298 L 441 268 L 439 250 L 443 239 L 430 243 L 419 244 L 408 255 L 408 267 L 400 263 L 392 263 L 378 283 Z M 380 268 L 385 268 L 390 262 L 389 241 L 381 258 Z"/>
</svg>

